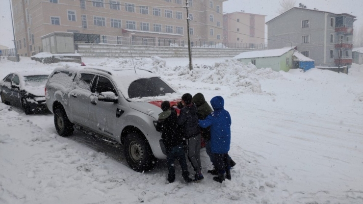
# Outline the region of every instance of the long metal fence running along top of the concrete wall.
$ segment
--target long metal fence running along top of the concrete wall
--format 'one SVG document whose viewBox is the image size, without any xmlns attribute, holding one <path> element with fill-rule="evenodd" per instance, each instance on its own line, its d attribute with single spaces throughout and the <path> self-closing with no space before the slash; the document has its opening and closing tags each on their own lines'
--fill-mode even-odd
<svg viewBox="0 0 363 204">
<path fill-rule="evenodd" d="M 154 38 L 154 37 L 122 37 L 122 36 L 109 36 L 101 35 L 100 42 L 104 44 L 117 44 L 117 45 L 139 45 L 139 46 L 170 46 L 170 47 L 185 47 L 187 41 L 173 38 Z M 214 41 L 191 41 L 192 47 L 202 48 L 245 48 L 245 49 L 267 49 L 266 44 L 257 43 L 221 43 Z"/>
</svg>

